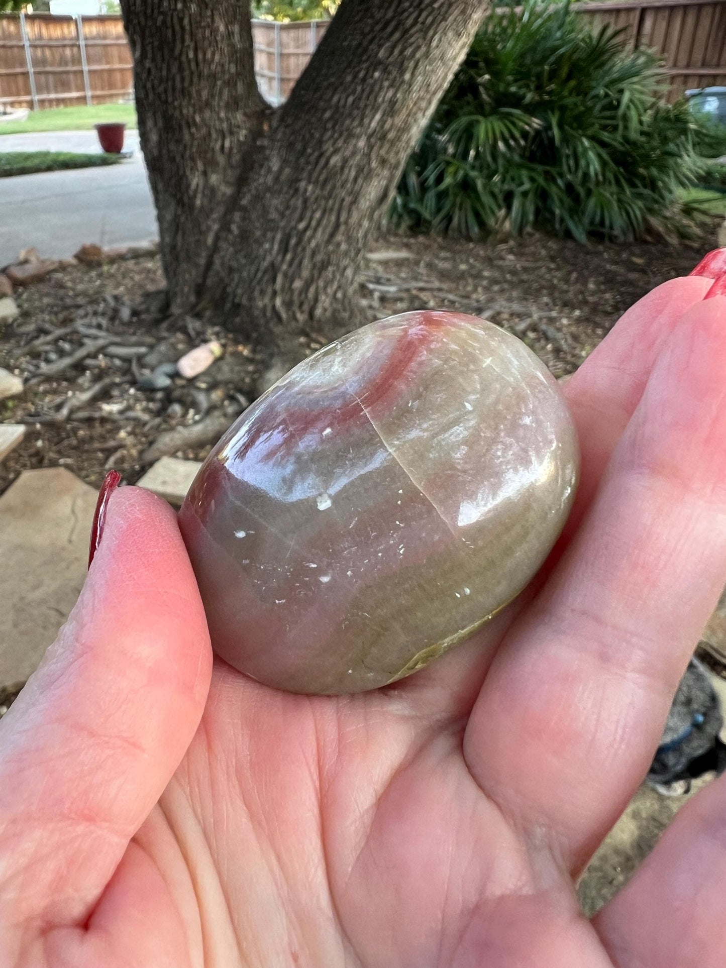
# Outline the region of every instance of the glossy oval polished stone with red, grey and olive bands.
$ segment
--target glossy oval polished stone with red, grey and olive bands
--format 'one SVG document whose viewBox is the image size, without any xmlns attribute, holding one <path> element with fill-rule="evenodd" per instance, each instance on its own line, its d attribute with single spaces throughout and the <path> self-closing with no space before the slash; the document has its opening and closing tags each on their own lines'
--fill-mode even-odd
<svg viewBox="0 0 726 968">
<path fill-rule="evenodd" d="M 557 381 L 492 323 L 351 333 L 242 414 L 182 507 L 214 649 L 295 692 L 415 672 L 528 584 L 577 465 Z"/>
</svg>

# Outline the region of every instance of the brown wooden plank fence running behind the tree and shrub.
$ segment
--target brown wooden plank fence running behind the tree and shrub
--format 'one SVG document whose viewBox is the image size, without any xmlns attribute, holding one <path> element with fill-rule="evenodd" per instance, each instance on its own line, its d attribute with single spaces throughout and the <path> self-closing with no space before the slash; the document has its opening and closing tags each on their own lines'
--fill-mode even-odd
<svg viewBox="0 0 726 968">
<path fill-rule="evenodd" d="M 690 88 L 726 86 L 726 0 L 616 0 L 573 10 L 593 28 L 622 27 L 633 48 L 660 54 L 673 99 Z M 326 28 L 327 21 L 253 21 L 257 83 L 268 101 L 285 101 Z M 131 97 L 132 88 L 120 17 L 0 16 L 0 105 L 101 104 Z"/>
</svg>

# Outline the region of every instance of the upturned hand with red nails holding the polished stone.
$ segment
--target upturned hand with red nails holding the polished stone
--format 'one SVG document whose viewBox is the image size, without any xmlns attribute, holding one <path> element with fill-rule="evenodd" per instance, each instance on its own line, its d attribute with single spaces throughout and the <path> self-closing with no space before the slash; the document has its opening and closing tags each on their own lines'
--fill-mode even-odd
<svg viewBox="0 0 726 968">
<path fill-rule="evenodd" d="M 173 513 L 116 492 L 71 619 L 0 723 L 2 964 L 722 965 L 726 776 L 592 923 L 573 887 L 726 581 L 710 285 L 655 289 L 564 384 L 583 481 L 536 588 L 378 692 L 293 696 L 213 667 Z"/>
</svg>

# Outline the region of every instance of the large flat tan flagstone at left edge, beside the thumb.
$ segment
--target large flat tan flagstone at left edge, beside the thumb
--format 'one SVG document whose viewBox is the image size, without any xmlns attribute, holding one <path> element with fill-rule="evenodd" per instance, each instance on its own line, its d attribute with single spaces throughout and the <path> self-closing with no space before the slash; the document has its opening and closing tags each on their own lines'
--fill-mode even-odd
<svg viewBox="0 0 726 968">
<path fill-rule="evenodd" d="M 0 497 L 0 686 L 30 676 L 76 603 L 95 507 L 65 468 L 25 470 Z"/>
</svg>

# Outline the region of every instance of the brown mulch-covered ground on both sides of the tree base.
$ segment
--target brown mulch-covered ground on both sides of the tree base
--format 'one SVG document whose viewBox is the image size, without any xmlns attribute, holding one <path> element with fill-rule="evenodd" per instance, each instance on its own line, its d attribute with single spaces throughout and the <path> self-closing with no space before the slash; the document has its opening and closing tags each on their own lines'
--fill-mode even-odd
<svg viewBox="0 0 726 968">
<path fill-rule="evenodd" d="M 629 305 L 687 274 L 714 245 L 714 237 L 581 246 L 539 235 L 500 245 L 393 235 L 372 247 L 360 296 L 372 320 L 422 308 L 489 318 L 560 377 Z M 153 444 L 157 456 L 201 460 L 220 436 L 214 428 L 255 398 L 261 363 L 252 348 L 193 318 L 159 326 L 153 290 L 162 286 L 158 257 L 140 257 L 72 266 L 16 293 L 21 313 L 0 335 L 0 366 L 26 388 L 0 401 L 0 421 L 24 423 L 27 433 L 0 465 L 0 493 L 21 470 L 57 465 L 96 487 L 109 467 L 134 483 L 152 463 Z M 158 363 L 210 339 L 225 355 L 196 379 L 174 378 L 162 390 L 138 385 Z M 311 332 L 302 350 L 325 342 L 325 333 Z M 87 355 L 69 362 L 83 346 Z M 181 434 L 160 440 L 172 430 Z"/>
</svg>

